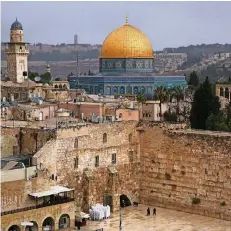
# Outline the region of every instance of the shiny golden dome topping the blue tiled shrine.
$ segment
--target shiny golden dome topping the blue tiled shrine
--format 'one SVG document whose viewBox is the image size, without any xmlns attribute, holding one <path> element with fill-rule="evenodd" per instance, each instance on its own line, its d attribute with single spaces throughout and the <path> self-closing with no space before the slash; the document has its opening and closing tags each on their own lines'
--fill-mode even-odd
<svg viewBox="0 0 231 231">
<path fill-rule="evenodd" d="M 104 40 L 100 58 L 154 58 L 152 44 L 136 27 L 126 24 Z"/>
</svg>

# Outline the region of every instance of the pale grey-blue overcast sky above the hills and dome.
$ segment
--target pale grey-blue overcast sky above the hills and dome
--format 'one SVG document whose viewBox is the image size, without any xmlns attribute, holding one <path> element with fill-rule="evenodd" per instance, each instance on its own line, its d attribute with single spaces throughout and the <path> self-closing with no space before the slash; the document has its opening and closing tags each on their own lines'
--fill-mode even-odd
<svg viewBox="0 0 231 231">
<path fill-rule="evenodd" d="M 231 43 L 231 2 L 1 2 L 1 39 L 18 18 L 30 43 L 102 44 L 125 23 L 141 29 L 153 49 Z"/>
</svg>

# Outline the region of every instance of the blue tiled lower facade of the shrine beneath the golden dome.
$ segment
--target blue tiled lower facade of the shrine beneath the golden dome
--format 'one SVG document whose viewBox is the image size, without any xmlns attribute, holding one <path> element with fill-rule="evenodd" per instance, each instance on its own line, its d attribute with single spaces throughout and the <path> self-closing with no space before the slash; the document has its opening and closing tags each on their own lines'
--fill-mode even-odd
<svg viewBox="0 0 231 231">
<path fill-rule="evenodd" d="M 137 73 L 134 76 L 122 75 L 96 75 L 96 76 L 71 76 L 68 79 L 70 89 L 85 89 L 89 94 L 137 94 L 144 92 L 152 97 L 158 86 L 172 88 L 174 86 L 187 87 L 185 76 L 145 76 Z"/>
</svg>

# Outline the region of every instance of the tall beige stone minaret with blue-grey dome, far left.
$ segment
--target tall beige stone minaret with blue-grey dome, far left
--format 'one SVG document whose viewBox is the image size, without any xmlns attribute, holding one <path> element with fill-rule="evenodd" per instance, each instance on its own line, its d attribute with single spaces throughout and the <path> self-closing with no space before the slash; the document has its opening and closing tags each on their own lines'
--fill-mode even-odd
<svg viewBox="0 0 231 231">
<path fill-rule="evenodd" d="M 6 44 L 8 78 L 22 83 L 28 78 L 29 43 L 24 42 L 22 24 L 17 18 L 10 28 L 10 42 Z"/>
</svg>

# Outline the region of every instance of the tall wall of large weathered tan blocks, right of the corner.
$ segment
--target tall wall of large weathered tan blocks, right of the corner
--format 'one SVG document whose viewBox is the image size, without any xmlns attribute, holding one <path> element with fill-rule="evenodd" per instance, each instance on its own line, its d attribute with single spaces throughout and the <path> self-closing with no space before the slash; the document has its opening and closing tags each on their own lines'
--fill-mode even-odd
<svg viewBox="0 0 231 231">
<path fill-rule="evenodd" d="M 156 126 L 142 136 L 141 203 L 231 220 L 231 134 Z"/>
</svg>

